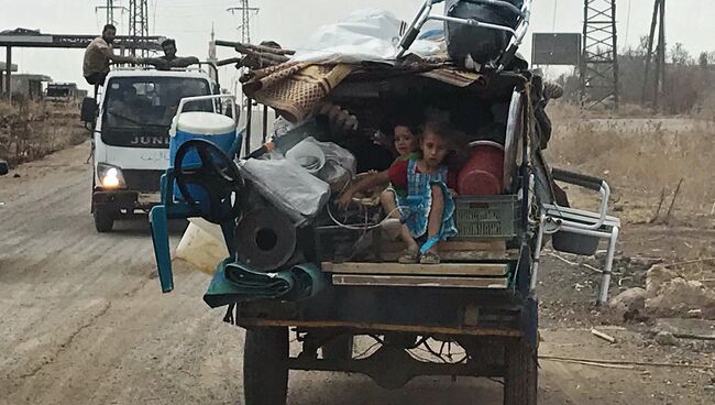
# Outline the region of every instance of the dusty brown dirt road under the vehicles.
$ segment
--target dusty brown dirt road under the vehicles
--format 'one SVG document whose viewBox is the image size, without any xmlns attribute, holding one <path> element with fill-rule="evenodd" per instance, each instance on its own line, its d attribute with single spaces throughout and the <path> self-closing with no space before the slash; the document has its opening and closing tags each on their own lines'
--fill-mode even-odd
<svg viewBox="0 0 715 405">
<path fill-rule="evenodd" d="M 0 178 L 0 404 L 240 404 L 243 333 L 201 302 L 204 274 L 178 269 L 177 289 L 160 293 L 144 220 L 95 231 L 87 154 L 80 145 Z M 587 329 L 543 337 L 546 353 L 632 358 L 632 344 L 609 347 Z M 695 381 L 649 372 L 659 392 L 661 375 Z M 501 403 L 501 385 L 486 380 L 385 391 L 361 375 L 290 379 L 290 404 Z M 656 397 L 640 371 L 542 361 L 540 404 L 710 403 L 680 402 L 678 391 Z"/>
</svg>

